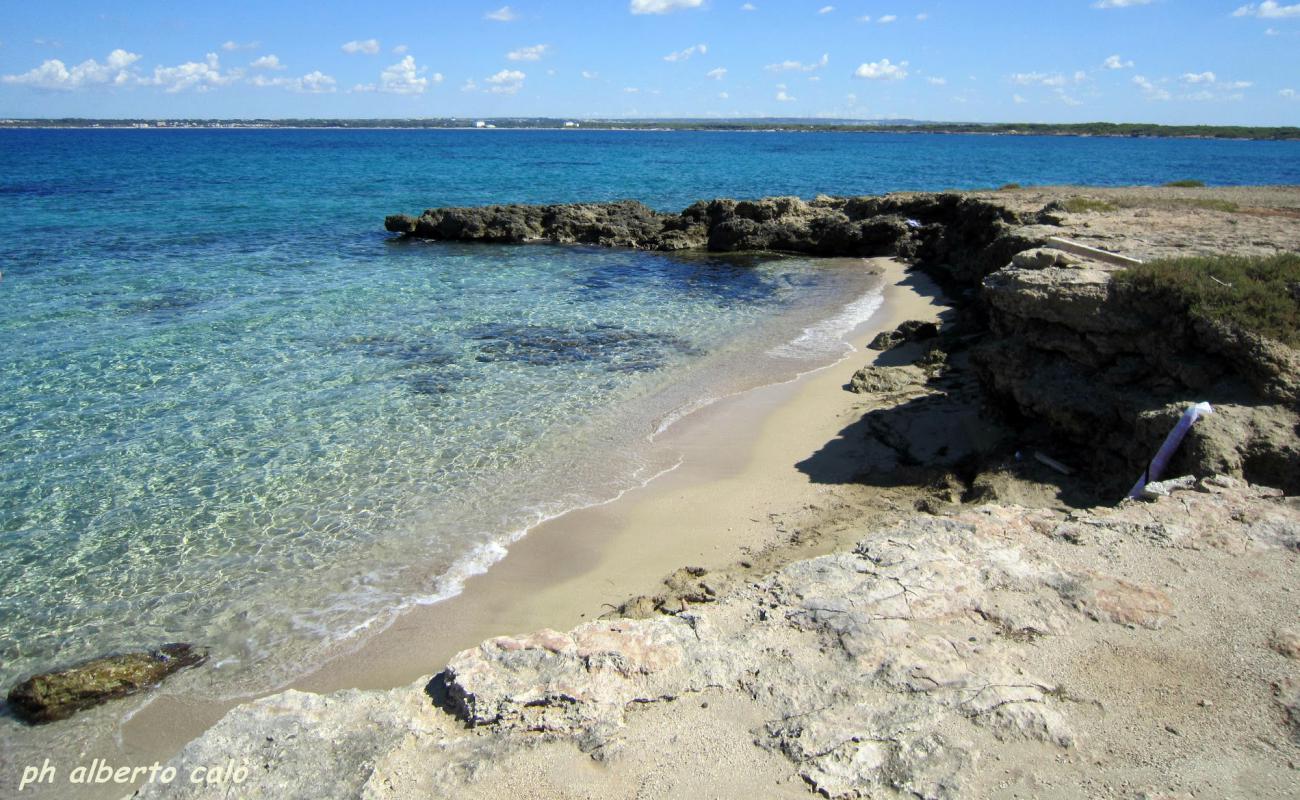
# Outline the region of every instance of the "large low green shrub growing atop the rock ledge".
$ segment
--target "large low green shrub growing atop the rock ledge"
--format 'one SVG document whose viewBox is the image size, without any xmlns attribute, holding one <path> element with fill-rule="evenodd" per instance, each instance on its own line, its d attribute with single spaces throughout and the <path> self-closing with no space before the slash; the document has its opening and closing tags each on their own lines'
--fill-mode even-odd
<svg viewBox="0 0 1300 800">
<path fill-rule="evenodd" d="M 1117 274 L 1154 307 L 1300 347 L 1300 254 L 1150 261 Z"/>
</svg>

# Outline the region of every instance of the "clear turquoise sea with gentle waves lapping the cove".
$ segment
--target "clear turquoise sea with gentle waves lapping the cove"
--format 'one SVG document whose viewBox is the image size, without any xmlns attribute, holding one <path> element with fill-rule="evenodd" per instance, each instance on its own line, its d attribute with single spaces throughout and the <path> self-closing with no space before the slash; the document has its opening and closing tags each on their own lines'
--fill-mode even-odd
<svg viewBox="0 0 1300 800">
<path fill-rule="evenodd" d="M 302 671 L 656 431 L 844 354 L 861 269 L 413 243 L 446 204 L 1300 183 L 1300 142 L 543 130 L 0 131 L 0 688 L 162 641 Z M 20 736 L 12 721 L 3 734 Z"/>
</svg>

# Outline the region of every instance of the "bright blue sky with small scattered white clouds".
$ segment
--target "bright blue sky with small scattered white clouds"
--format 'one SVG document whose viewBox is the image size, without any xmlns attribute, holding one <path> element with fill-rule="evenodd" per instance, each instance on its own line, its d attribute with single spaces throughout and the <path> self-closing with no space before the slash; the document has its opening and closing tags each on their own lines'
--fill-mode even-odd
<svg viewBox="0 0 1300 800">
<path fill-rule="evenodd" d="M 0 117 L 1300 125 L 1300 0 L 0 0 Z"/>
</svg>

